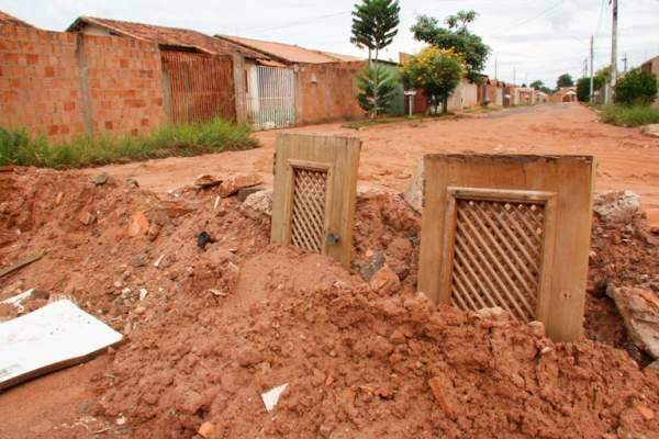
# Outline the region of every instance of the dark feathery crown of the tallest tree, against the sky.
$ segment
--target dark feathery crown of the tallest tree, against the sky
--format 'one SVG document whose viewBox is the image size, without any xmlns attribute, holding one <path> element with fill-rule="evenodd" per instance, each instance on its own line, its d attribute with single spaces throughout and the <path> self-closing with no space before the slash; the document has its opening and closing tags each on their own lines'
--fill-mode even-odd
<svg viewBox="0 0 659 439">
<path fill-rule="evenodd" d="M 353 36 L 350 43 L 359 48 L 376 52 L 376 61 L 380 49 L 389 46 L 398 34 L 401 7 L 398 0 L 361 0 L 353 10 Z"/>
</svg>

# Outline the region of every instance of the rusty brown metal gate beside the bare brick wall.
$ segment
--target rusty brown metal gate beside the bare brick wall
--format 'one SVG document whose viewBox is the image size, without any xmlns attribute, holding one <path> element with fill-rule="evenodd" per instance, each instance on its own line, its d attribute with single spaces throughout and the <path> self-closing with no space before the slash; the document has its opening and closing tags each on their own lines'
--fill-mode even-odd
<svg viewBox="0 0 659 439">
<path fill-rule="evenodd" d="M 170 121 L 202 123 L 236 120 L 233 61 L 230 57 L 161 50 L 165 108 Z"/>
</svg>

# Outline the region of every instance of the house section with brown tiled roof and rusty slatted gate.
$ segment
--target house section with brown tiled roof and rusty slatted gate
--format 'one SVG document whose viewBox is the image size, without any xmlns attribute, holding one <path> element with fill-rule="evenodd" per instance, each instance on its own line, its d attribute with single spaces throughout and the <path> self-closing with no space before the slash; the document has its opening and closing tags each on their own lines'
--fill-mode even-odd
<svg viewBox="0 0 659 439">
<path fill-rule="evenodd" d="M 267 55 L 186 29 L 81 16 L 67 32 L 157 44 L 164 108 L 172 123 L 206 122 L 216 116 L 243 121 L 242 64 L 269 59 Z"/>
</svg>

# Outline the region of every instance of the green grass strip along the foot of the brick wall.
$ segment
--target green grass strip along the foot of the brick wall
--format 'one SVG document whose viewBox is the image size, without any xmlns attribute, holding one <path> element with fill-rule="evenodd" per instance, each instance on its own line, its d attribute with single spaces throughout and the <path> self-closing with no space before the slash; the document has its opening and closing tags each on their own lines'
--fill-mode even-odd
<svg viewBox="0 0 659 439">
<path fill-rule="evenodd" d="M 163 157 L 190 157 L 224 150 L 250 149 L 258 142 L 248 125 L 216 119 L 202 124 L 169 125 L 144 136 L 79 136 L 53 143 L 25 130 L 0 127 L 0 166 L 85 168 Z"/>
</svg>

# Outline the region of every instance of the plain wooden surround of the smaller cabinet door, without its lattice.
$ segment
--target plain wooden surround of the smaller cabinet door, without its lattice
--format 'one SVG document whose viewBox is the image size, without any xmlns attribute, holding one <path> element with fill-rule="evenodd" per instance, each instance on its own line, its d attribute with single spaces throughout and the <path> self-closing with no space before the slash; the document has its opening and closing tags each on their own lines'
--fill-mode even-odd
<svg viewBox="0 0 659 439">
<path fill-rule="evenodd" d="M 322 252 L 349 268 L 360 147 L 361 142 L 350 137 L 291 133 L 280 133 L 277 136 L 272 241 L 283 245 L 291 244 L 295 196 L 294 170 L 325 170 L 327 180 Z M 328 245 L 328 234 L 338 236 L 338 243 Z"/>
</svg>

